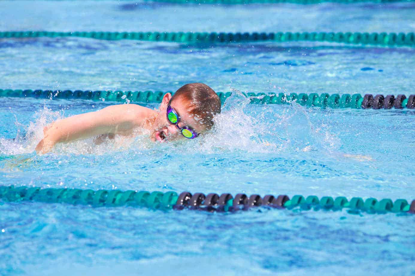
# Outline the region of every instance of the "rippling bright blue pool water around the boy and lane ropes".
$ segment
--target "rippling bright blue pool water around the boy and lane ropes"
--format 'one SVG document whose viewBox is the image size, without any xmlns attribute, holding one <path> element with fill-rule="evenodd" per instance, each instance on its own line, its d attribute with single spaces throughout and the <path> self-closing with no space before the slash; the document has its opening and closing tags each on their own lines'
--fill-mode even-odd
<svg viewBox="0 0 415 276">
<path fill-rule="evenodd" d="M 407 32 L 414 10 L 411 3 L 2 1 L 0 31 Z M 195 140 L 157 144 L 143 135 L 95 146 L 88 139 L 44 156 L 34 147 L 48 122 L 112 103 L 0 98 L 0 185 L 410 201 L 415 111 L 255 105 L 239 91 L 409 96 L 414 53 L 328 43 L 3 38 L 2 89 L 175 91 L 204 82 L 233 94 L 214 129 Z M 206 214 L 0 201 L 0 275 L 411 275 L 414 226 L 413 216 L 345 210 Z"/>
</svg>

